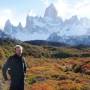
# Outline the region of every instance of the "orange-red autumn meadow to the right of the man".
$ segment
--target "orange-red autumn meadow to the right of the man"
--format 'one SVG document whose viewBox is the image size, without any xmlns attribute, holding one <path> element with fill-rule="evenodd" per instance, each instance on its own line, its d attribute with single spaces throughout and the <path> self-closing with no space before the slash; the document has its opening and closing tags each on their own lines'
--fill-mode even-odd
<svg viewBox="0 0 90 90">
<path fill-rule="evenodd" d="M 30 90 L 90 90 L 90 58 L 27 60 Z"/>
</svg>

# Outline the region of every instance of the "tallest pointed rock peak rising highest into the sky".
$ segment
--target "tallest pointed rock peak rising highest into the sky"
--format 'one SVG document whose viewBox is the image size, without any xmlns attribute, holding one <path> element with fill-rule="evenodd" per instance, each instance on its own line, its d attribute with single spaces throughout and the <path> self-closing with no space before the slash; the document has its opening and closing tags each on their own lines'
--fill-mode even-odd
<svg viewBox="0 0 90 90">
<path fill-rule="evenodd" d="M 57 17 L 57 10 L 54 4 L 50 4 L 50 6 L 46 8 L 44 17 L 51 17 L 51 18 Z"/>
</svg>

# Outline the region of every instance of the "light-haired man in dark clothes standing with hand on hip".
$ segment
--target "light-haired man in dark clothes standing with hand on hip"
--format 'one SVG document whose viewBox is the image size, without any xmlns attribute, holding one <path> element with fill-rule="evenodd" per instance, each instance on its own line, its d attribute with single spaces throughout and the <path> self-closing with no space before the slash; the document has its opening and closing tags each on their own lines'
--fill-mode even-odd
<svg viewBox="0 0 90 90">
<path fill-rule="evenodd" d="M 3 77 L 6 81 L 10 81 L 9 90 L 24 90 L 24 75 L 26 73 L 26 64 L 22 56 L 22 52 L 22 46 L 16 45 L 15 54 L 10 56 L 3 65 Z"/>
</svg>

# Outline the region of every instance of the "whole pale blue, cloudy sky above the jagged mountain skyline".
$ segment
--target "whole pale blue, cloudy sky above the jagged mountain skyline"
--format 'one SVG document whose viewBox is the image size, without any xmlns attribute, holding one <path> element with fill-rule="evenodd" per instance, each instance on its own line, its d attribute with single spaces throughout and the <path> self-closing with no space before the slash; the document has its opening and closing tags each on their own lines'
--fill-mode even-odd
<svg viewBox="0 0 90 90">
<path fill-rule="evenodd" d="M 27 14 L 43 16 L 45 8 L 53 3 L 62 19 L 77 15 L 90 18 L 90 0 L 0 0 L 0 28 L 7 19 L 18 25 L 25 25 Z"/>
</svg>

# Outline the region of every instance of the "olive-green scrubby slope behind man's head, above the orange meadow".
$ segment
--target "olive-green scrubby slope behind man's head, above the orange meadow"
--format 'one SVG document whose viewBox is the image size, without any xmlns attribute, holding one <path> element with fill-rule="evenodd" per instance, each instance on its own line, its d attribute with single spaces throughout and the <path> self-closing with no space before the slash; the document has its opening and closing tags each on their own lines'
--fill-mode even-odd
<svg viewBox="0 0 90 90">
<path fill-rule="evenodd" d="M 14 46 L 20 44 L 24 47 L 24 56 L 35 58 L 68 58 L 68 57 L 90 57 L 90 47 L 68 47 L 68 46 L 37 46 L 28 43 L 0 40 L 0 56 L 8 57 L 14 52 Z"/>
</svg>

